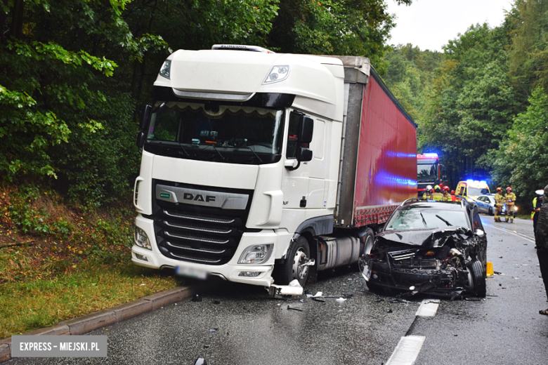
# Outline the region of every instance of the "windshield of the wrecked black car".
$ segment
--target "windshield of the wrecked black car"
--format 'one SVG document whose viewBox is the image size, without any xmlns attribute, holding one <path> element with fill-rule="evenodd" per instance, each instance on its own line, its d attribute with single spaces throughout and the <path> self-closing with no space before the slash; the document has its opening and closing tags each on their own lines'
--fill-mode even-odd
<svg viewBox="0 0 548 365">
<path fill-rule="evenodd" d="M 469 227 L 466 213 L 435 209 L 431 206 L 407 206 L 394 213 L 384 230 L 418 230 L 449 226 Z"/>
</svg>

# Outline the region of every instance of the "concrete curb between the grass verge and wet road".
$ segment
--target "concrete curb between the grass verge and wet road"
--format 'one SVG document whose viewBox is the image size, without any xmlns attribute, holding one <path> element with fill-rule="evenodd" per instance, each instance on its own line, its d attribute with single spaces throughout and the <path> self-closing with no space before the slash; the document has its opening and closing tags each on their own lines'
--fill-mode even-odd
<svg viewBox="0 0 548 365">
<path fill-rule="evenodd" d="M 145 296 L 138 300 L 117 305 L 107 310 L 100 310 L 85 316 L 60 321 L 56 326 L 37 328 L 22 333 L 25 336 L 46 336 L 46 335 L 83 335 L 104 326 L 110 326 L 119 321 L 125 321 L 139 314 L 156 310 L 159 307 L 180 302 L 183 299 L 194 295 L 194 288 L 191 286 L 178 286 L 167 291 Z M 0 362 L 11 359 L 11 337 L 0 340 Z"/>
</svg>

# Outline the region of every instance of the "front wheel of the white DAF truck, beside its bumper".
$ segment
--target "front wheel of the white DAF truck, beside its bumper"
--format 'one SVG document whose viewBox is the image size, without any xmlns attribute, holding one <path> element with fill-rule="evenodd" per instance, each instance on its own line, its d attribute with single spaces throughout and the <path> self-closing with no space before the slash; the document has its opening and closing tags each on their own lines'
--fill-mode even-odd
<svg viewBox="0 0 548 365">
<path fill-rule="evenodd" d="M 301 266 L 306 260 L 310 258 L 310 246 L 308 240 L 302 236 L 292 241 L 289 250 L 287 250 L 287 257 L 285 262 L 278 267 L 278 283 L 274 284 L 287 285 L 294 279 L 299 280 L 299 284 L 304 286 L 306 279 L 308 279 L 308 272 L 310 267 Z"/>
</svg>

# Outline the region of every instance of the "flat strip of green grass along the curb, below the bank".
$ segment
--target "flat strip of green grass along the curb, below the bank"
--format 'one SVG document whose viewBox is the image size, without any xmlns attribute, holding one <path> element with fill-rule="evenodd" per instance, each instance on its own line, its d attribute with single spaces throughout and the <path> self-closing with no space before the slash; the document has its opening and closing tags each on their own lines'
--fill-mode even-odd
<svg viewBox="0 0 548 365">
<path fill-rule="evenodd" d="M 97 310 L 128 303 L 179 283 L 174 277 L 124 265 L 83 265 L 53 279 L 0 286 L 0 338 L 53 326 Z"/>
</svg>

